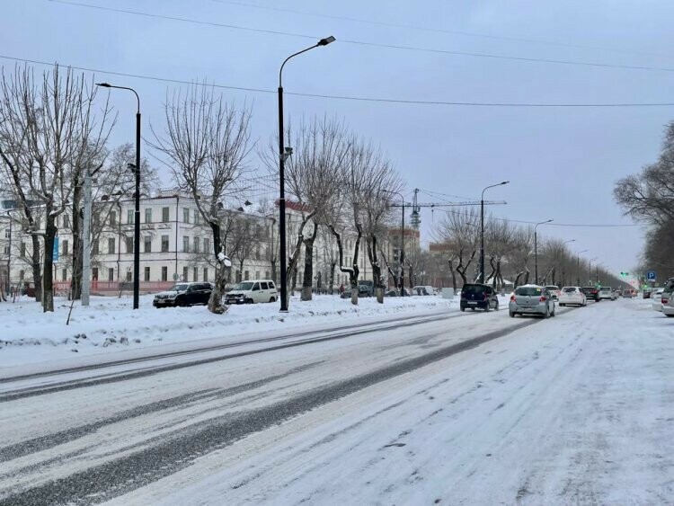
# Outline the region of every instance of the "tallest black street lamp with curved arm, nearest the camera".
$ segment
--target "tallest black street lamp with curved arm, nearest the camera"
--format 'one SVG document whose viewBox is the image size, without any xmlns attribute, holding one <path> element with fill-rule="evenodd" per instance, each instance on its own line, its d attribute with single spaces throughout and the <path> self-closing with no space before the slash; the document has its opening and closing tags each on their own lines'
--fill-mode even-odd
<svg viewBox="0 0 674 506">
<path fill-rule="evenodd" d="M 331 42 L 334 42 L 334 37 L 326 37 L 316 42 L 310 48 L 302 49 L 290 55 L 288 58 L 283 60 L 281 67 L 279 69 L 279 247 L 280 247 L 280 300 L 282 312 L 288 311 L 288 282 L 286 279 L 286 158 L 289 155 L 292 155 L 292 147 L 286 148 L 283 146 L 283 84 L 281 78 L 283 76 L 283 67 L 286 66 L 290 58 L 297 57 L 302 53 L 306 53 L 314 48 L 319 46 L 327 46 Z"/>
</svg>

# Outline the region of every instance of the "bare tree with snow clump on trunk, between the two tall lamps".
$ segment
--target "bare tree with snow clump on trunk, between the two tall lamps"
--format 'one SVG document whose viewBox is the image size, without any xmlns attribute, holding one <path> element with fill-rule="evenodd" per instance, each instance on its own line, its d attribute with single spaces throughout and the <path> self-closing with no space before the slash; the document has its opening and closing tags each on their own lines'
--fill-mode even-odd
<svg viewBox="0 0 674 506">
<path fill-rule="evenodd" d="M 173 179 L 191 194 L 201 217 L 213 234 L 213 251 L 218 262 L 215 289 L 208 310 L 222 314 L 226 283 L 226 253 L 221 240 L 218 210 L 222 201 L 245 172 L 252 149 L 252 111 L 223 101 L 213 88 L 191 85 L 186 93 L 173 93 L 164 104 L 164 134 L 155 136 L 155 149 L 168 159 Z"/>
</svg>

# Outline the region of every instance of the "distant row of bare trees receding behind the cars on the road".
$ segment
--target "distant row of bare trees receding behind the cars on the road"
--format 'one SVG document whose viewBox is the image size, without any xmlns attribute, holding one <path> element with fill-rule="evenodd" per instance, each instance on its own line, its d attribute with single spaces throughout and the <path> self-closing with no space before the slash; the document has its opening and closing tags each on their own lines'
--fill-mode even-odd
<svg viewBox="0 0 674 506">
<path fill-rule="evenodd" d="M 479 281 L 480 213 L 475 208 L 448 211 L 435 231 L 433 249 L 442 259 L 433 268 L 436 277 L 448 271 L 451 287 Z M 616 284 L 610 272 L 594 268 L 573 254 L 563 240 L 538 240 L 538 282 L 557 286 L 587 284 L 592 280 Z M 510 281 L 515 287 L 534 282 L 534 228 L 519 226 L 508 220 L 485 217 L 485 281 L 501 289 Z M 445 270 L 447 269 L 447 271 Z"/>
</svg>

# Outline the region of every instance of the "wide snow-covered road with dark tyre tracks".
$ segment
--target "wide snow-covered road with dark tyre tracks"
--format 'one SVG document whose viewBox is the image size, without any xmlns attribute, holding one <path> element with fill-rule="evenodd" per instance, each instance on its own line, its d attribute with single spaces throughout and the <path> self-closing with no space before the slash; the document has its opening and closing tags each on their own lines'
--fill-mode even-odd
<svg viewBox="0 0 674 506">
<path fill-rule="evenodd" d="M 5 379 L 0 503 L 667 503 L 674 330 L 644 302 Z"/>
</svg>

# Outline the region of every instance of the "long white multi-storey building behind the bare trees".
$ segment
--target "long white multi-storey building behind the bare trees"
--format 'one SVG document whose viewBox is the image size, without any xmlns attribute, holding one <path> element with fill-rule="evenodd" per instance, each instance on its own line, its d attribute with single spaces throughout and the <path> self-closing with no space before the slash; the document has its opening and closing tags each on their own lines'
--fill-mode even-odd
<svg viewBox="0 0 674 506">
<path fill-rule="evenodd" d="M 105 199 L 105 198 L 103 198 Z M 288 256 L 295 244 L 297 225 L 301 221 L 301 209 L 288 203 L 287 237 Z M 276 216 L 262 216 L 246 209 L 223 209 L 223 217 L 233 223 L 247 220 L 251 225 L 246 229 L 250 234 L 246 240 L 253 244 L 235 249 L 233 233 L 223 229 L 222 241 L 227 254 L 232 257 L 233 281 L 249 279 L 271 279 L 276 271 L 279 279 L 279 231 Z M 116 293 L 132 289 L 133 280 L 133 235 L 134 201 L 99 200 L 93 202 L 92 216 L 92 293 Z M 31 235 L 22 226 L 21 211 L 4 211 L 0 220 L 0 280 L 4 286 L 30 284 L 31 274 Z M 12 219 L 9 219 L 12 217 Z M 39 234 L 43 232 L 44 219 L 40 220 Z M 60 294 L 67 293 L 72 278 L 73 237 L 72 213 L 58 217 L 58 259 L 54 262 L 55 289 Z M 223 221 L 226 221 L 223 219 Z M 42 228 L 40 228 L 42 227 Z M 11 230 L 10 230 L 11 228 Z M 313 230 L 308 224 L 305 234 Z M 324 235 L 315 242 L 314 286 L 327 288 L 329 257 L 335 256 L 333 248 L 324 244 Z M 176 191 L 160 191 L 155 197 L 140 201 L 140 289 L 152 292 L 165 289 L 174 280 L 212 281 L 215 278 L 216 263 L 210 227 L 203 223 L 195 201 L 188 195 Z M 40 237 L 40 244 L 43 241 Z M 343 238 L 344 262 L 349 263 L 354 239 Z M 364 243 L 363 243 L 364 246 Z M 330 250 L 333 250 L 332 252 Z M 242 255 L 241 252 L 245 254 Z M 367 252 L 361 247 L 360 278 L 371 279 Z M 40 261 L 43 252 L 40 252 Z M 7 269 L 9 267 L 9 269 Z M 7 279 L 6 271 L 10 275 Z M 320 273 L 320 274 L 319 274 Z M 304 274 L 304 246 L 297 262 L 297 288 L 301 287 Z M 348 284 L 348 275 L 335 270 L 335 287 Z"/>
</svg>

